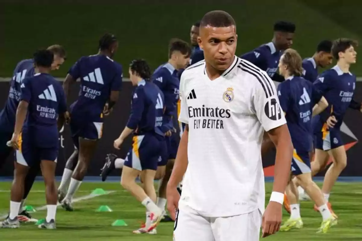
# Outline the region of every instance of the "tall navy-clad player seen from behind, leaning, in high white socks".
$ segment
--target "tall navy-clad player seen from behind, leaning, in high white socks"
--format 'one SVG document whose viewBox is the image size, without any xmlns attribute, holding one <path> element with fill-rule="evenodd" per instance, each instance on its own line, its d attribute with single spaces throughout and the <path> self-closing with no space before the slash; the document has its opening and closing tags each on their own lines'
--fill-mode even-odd
<svg viewBox="0 0 362 241">
<path fill-rule="evenodd" d="M 105 34 L 98 47 L 98 54 L 81 57 L 72 66 L 63 86 L 68 96 L 70 84 L 77 78 L 81 79 L 79 97 L 70 107 L 70 128 L 75 149 L 67 161 L 58 189 L 58 200 L 67 211 L 73 211 L 73 195 L 87 173 L 97 141 L 102 137 L 103 115 L 113 108 L 122 85 L 122 66 L 112 59 L 118 48 L 117 38 L 113 34 Z"/>
</svg>

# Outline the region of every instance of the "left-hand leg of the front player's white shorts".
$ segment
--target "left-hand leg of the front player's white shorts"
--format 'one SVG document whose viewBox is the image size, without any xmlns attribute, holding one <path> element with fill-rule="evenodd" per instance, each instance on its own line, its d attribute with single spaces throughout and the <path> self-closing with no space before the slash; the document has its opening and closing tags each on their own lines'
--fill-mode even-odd
<svg viewBox="0 0 362 241">
<path fill-rule="evenodd" d="M 241 224 L 240 224 L 241 226 Z M 182 200 L 178 205 L 178 211 L 173 228 L 173 240 L 177 241 L 215 241 L 211 229 L 210 218 L 199 215 L 195 210 L 186 206 Z M 231 240 L 244 240 L 237 237 Z M 245 239 L 247 240 L 247 239 Z"/>
</svg>

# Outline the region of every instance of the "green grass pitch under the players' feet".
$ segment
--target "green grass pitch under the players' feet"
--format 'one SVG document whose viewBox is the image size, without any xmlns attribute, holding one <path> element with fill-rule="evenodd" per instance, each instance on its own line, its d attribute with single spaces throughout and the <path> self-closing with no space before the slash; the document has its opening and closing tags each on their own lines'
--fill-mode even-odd
<svg viewBox="0 0 362 241">
<path fill-rule="evenodd" d="M 6 214 L 9 207 L 9 189 L 11 182 L 0 182 L 0 216 Z M 362 240 L 362 183 L 338 182 L 331 194 L 333 209 L 338 215 L 338 225 L 327 234 L 317 234 L 321 222 L 319 213 L 313 211 L 310 201 L 301 203 L 304 228 L 297 231 L 277 233 L 265 238 L 266 241 L 352 241 Z M 0 240 L 127 240 L 127 241 L 166 241 L 172 240 L 173 223 L 161 223 L 157 235 L 133 234 L 145 218 L 144 207 L 138 203 L 118 183 L 83 183 L 76 197 L 86 196 L 96 188 L 114 191 L 74 204 L 74 212 L 66 212 L 58 207 L 56 230 L 39 230 L 34 224 L 22 224 L 19 229 L 0 229 Z M 266 183 L 267 200 L 271 183 Z M 36 182 L 27 205 L 41 207 L 45 205 L 44 184 Z M 101 205 L 108 205 L 113 212 L 96 212 Z M 36 219 L 45 218 L 46 211 L 33 213 Z M 283 211 L 283 220 L 289 215 Z M 123 219 L 128 226 L 112 227 L 116 219 Z"/>
</svg>

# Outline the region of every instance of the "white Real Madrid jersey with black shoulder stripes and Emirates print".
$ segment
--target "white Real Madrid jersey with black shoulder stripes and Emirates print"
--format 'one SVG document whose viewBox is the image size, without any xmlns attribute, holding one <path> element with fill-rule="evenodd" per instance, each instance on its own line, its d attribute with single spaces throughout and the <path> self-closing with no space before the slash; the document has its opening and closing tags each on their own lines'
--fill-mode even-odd
<svg viewBox="0 0 362 241">
<path fill-rule="evenodd" d="M 189 125 L 180 202 L 207 217 L 264 212 L 263 134 L 286 123 L 273 81 L 236 56 L 211 81 L 200 61 L 182 73 L 180 99 Z"/>
</svg>

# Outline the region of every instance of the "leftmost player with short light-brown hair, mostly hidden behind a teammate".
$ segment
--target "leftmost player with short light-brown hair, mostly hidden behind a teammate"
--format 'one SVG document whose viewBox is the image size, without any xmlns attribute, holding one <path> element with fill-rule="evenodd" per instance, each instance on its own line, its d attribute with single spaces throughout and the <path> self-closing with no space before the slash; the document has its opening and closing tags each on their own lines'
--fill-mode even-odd
<svg viewBox="0 0 362 241">
<path fill-rule="evenodd" d="M 64 48 L 58 44 L 49 46 L 47 50 L 54 54 L 54 61 L 51 65 L 52 70 L 59 69 L 60 65 L 64 63 L 66 59 L 66 52 Z M 17 65 L 13 73 L 13 78 L 10 81 L 9 96 L 5 103 L 4 109 L 0 112 L 0 168 L 5 163 L 5 160 L 11 153 L 12 148 L 6 145 L 14 132 L 16 109 L 19 104 L 20 98 L 20 85 L 25 77 L 31 77 L 34 75 L 34 60 L 25 59 L 21 60 Z M 33 186 L 35 177 L 40 171 L 39 165 L 30 167 L 28 174 L 25 178 L 24 197 L 21 200 L 18 219 L 19 221 L 30 221 L 31 215 L 23 209 L 25 199 L 28 197 L 29 191 Z"/>
</svg>

